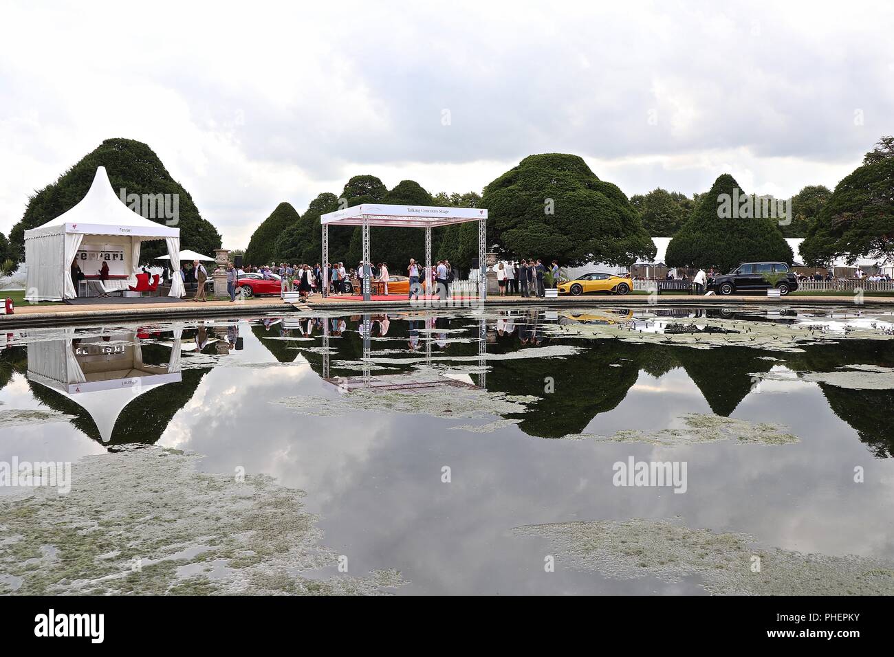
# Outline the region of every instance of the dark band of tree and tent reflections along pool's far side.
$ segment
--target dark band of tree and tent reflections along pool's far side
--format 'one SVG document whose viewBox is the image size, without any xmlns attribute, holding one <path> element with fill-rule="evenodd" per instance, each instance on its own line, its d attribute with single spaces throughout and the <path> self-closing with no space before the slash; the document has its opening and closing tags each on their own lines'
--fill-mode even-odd
<svg viewBox="0 0 894 657">
<path fill-rule="evenodd" d="M 518 420 L 525 434 L 560 438 L 585 432 L 595 418 L 616 409 L 643 374 L 661 379 L 682 370 L 685 386 L 693 386 L 714 414 L 730 417 L 755 392 L 755 375 L 773 367 L 832 372 L 856 365 L 894 365 L 894 350 L 887 340 L 824 341 L 791 351 L 692 349 L 671 341 L 677 333 L 713 331 L 704 324 L 712 319 L 736 320 L 743 326 L 822 322 L 839 333 L 851 326 L 882 331 L 890 326 L 890 317 L 846 311 L 617 308 L 499 310 L 485 316 L 471 312 L 283 316 L 126 331 L 65 329 L 46 340 L 39 339 L 39 332 L 25 334 L 27 339 L 21 341 L 13 336 L 7 349 L 0 351 L 0 390 L 17 369 L 24 370 L 34 398 L 73 416 L 72 425 L 91 438 L 113 445 L 154 443 L 212 368 L 226 366 L 228 357 L 235 358 L 231 365 L 246 364 L 240 356 L 249 339 L 251 351 L 260 349 L 280 364 L 307 364 L 322 380 L 341 386 L 342 392 L 345 386 L 382 385 L 388 376 L 434 365 L 452 381 L 468 379 L 490 391 L 537 397 L 540 400 L 530 404 L 529 412 L 510 419 Z M 639 333 L 662 333 L 665 341 L 579 341 L 567 333 L 544 331 L 551 325 L 630 327 Z M 537 358 L 534 353 L 532 358 L 502 359 L 550 344 L 576 345 L 578 352 L 559 359 Z M 21 362 L 23 353 L 27 363 Z M 401 358 L 408 360 L 403 363 Z M 476 362 L 472 374 L 453 371 L 458 366 L 468 370 Z M 544 395 L 544 381 L 551 382 L 554 394 Z M 831 410 L 856 429 L 876 456 L 894 453 L 887 418 L 894 392 L 817 385 Z"/>
</svg>

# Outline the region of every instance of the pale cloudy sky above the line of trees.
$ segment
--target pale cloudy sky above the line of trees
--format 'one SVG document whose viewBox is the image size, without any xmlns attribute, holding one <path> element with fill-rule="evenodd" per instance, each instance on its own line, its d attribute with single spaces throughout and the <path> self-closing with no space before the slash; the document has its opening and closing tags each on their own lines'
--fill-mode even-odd
<svg viewBox="0 0 894 657">
<path fill-rule="evenodd" d="M 371 173 L 480 191 L 533 153 L 628 196 L 834 185 L 894 134 L 883 2 L 0 0 L 0 232 L 103 139 L 139 139 L 244 248 Z"/>
</svg>

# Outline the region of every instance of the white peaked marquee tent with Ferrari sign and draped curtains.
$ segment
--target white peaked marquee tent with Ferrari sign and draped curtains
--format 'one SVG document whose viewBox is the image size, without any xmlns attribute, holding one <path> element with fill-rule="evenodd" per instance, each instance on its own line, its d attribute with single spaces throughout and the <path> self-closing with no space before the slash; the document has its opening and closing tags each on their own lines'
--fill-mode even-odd
<svg viewBox="0 0 894 657">
<path fill-rule="evenodd" d="M 101 284 L 105 291 L 126 290 L 129 285 L 137 284 L 140 244 L 149 240 L 167 243 L 173 269 L 170 296 L 185 296 L 180 277 L 180 229 L 146 219 L 125 206 L 115 195 L 105 167 L 99 166 L 93 184 L 78 205 L 38 228 L 25 231 L 28 269 L 25 299 L 61 301 L 77 297 L 71 276 L 72 260 L 82 245 L 88 244 L 97 251 L 122 252 L 123 273 L 127 278 Z"/>
</svg>

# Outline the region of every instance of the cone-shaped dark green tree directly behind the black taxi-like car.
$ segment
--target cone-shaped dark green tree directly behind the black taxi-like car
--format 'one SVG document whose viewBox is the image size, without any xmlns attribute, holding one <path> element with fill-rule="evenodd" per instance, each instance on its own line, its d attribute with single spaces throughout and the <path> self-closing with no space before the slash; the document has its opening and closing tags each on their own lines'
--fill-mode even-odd
<svg viewBox="0 0 894 657">
<path fill-rule="evenodd" d="M 738 182 L 721 175 L 703 197 L 683 227 L 668 244 L 666 264 L 672 267 L 717 267 L 729 272 L 742 262 L 793 260 L 776 219 L 768 217 L 721 218 L 730 199 L 745 199 Z M 754 198 L 752 198 L 754 200 Z M 738 208 L 734 208 L 737 209 Z"/>
</svg>

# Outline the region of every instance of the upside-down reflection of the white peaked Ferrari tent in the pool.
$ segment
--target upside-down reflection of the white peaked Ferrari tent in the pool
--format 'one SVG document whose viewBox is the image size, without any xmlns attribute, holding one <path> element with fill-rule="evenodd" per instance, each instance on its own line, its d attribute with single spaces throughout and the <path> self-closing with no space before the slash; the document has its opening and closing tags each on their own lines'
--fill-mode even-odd
<svg viewBox="0 0 894 657">
<path fill-rule="evenodd" d="M 63 340 L 28 345 L 28 379 L 86 410 L 104 443 L 111 442 L 115 422 L 131 401 L 165 383 L 181 382 L 182 329 L 174 329 L 166 366 L 143 363 L 133 331 L 83 339 L 74 329 L 65 333 Z"/>
</svg>

